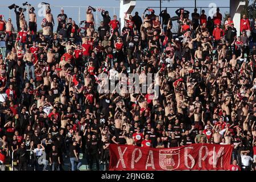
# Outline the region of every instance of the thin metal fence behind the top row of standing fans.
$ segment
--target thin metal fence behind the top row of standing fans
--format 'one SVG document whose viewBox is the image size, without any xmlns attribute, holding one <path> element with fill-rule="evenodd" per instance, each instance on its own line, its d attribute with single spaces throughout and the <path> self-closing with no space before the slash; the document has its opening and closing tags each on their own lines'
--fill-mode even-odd
<svg viewBox="0 0 256 182">
<path fill-rule="evenodd" d="M 44 18 L 44 15 L 42 14 L 43 9 L 42 9 L 42 5 L 32 5 L 35 7 L 35 13 L 37 15 L 37 23 L 38 25 L 40 24 L 40 22 L 42 22 L 42 19 Z M 20 6 L 22 8 L 26 8 L 27 10 L 24 12 L 24 15 L 26 17 L 26 20 L 28 22 L 28 6 Z M 86 9 L 88 8 L 88 6 L 51 6 L 51 12 L 53 14 L 54 17 L 54 21 L 55 21 L 55 27 L 53 31 L 56 31 L 57 29 L 57 15 L 60 14 L 60 10 L 64 9 L 64 13 L 67 14 L 68 18 L 72 18 L 72 20 L 75 20 L 76 24 L 80 25 L 80 22 L 82 20 L 85 20 L 86 18 Z M 95 27 L 96 29 L 100 26 L 100 22 L 103 20 L 102 16 L 101 16 L 101 10 L 105 10 L 105 11 L 109 11 L 109 15 L 110 17 L 113 19 L 113 15 L 117 15 L 117 18 L 119 19 L 119 7 L 101 7 L 101 6 L 97 6 L 94 7 L 96 9 L 96 12 L 93 12 L 94 14 L 94 21 L 95 21 Z M 135 14 L 136 11 L 138 11 L 139 15 L 142 16 L 142 13 L 144 12 L 144 10 L 148 8 L 148 9 L 154 9 L 155 10 L 155 14 L 159 15 L 160 13 L 160 7 L 159 6 L 154 6 L 154 7 L 135 7 L 133 10 L 133 15 Z M 176 16 L 175 11 L 177 9 L 179 9 L 180 7 L 162 7 L 162 10 L 166 9 L 167 13 L 169 13 L 171 16 Z M 190 13 L 193 13 L 193 9 L 194 7 L 185 7 L 184 9 L 188 10 Z M 209 13 L 213 13 L 213 7 L 197 7 L 198 9 L 198 13 L 201 13 L 201 10 L 205 10 L 205 14 L 209 15 Z M 220 7 L 220 11 L 222 13 L 222 15 L 224 15 L 225 13 L 229 13 L 229 7 Z M 16 15 L 14 13 L 14 9 L 10 10 L 8 8 L 7 5 L 0 5 L 0 15 L 4 15 L 5 19 L 7 20 L 7 18 L 11 18 L 12 19 L 12 23 L 14 25 L 14 27 L 16 28 Z M 191 15 L 191 14 L 190 14 Z M 190 16 L 191 18 L 191 16 Z M 174 30 L 172 30 L 173 32 L 176 32 L 177 29 L 177 24 L 176 22 L 173 22 L 173 28 Z M 38 30 L 40 30 L 40 26 L 38 27 Z"/>
</svg>

